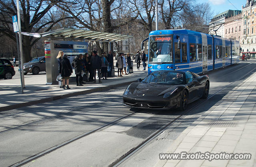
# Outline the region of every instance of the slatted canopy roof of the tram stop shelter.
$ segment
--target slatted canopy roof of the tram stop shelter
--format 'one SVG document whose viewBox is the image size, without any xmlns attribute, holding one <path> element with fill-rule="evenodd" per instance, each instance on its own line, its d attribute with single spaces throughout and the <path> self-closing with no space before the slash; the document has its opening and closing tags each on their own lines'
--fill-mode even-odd
<svg viewBox="0 0 256 167">
<path fill-rule="evenodd" d="M 40 33 L 41 37 L 46 38 L 61 38 L 68 40 L 88 40 L 88 41 L 101 41 L 101 42 L 118 42 L 133 36 L 113 34 L 108 32 L 97 32 L 90 30 L 80 30 L 73 28 L 61 28 L 49 32 Z"/>
</svg>

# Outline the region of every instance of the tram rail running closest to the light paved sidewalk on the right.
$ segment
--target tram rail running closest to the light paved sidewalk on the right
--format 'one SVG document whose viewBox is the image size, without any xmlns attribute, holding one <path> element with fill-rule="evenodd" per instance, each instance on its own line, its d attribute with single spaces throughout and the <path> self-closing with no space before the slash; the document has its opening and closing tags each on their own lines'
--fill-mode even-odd
<svg viewBox="0 0 256 167">
<path fill-rule="evenodd" d="M 250 70 L 250 72 L 254 71 L 256 68 Z M 159 129 L 158 131 L 156 131 L 155 133 L 153 133 L 152 135 L 150 135 L 148 138 L 146 138 L 144 141 L 142 141 L 139 145 L 137 145 L 136 147 L 132 148 L 130 151 L 128 151 L 127 153 L 125 153 L 124 155 L 122 155 L 120 158 L 118 158 L 116 161 L 114 161 L 112 164 L 110 164 L 108 167 L 117 167 L 119 166 L 121 163 L 123 163 L 126 159 L 128 159 L 129 157 L 131 157 L 134 153 L 136 153 L 138 150 L 140 150 L 142 147 L 144 147 L 146 144 L 148 144 L 150 141 L 152 141 L 153 139 L 155 139 L 158 135 L 160 135 L 161 133 L 163 133 L 168 127 L 170 127 L 173 123 L 175 123 L 176 121 L 182 119 L 183 117 L 186 116 L 186 113 L 193 111 L 194 109 L 200 107 L 200 105 L 202 105 L 205 101 L 207 101 L 208 99 L 211 99 L 212 97 L 214 97 L 214 95 L 216 95 L 218 92 L 226 89 L 227 87 L 229 87 L 230 85 L 232 85 L 233 83 L 237 82 L 238 80 L 241 80 L 242 78 L 248 76 L 250 74 L 250 72 L 248 72 L 247 74 L 243 75 L 242 77 L 238 78 L 237 80 L 235 80 L 234 82 L 224 86 L 222 89 L 216 91 L 214 94 L 210 95 L 207 99 L 204 99 L 203 101 L 201 101 L 201 103 L 199 103 L 199 105 L 194 105 L 194 107 L 188 109 L 187 111 L 184 111 L 181 115 L 179 115 L 178 117 L 176 117 L 175 119 L 173 119 L 172 121 L 170 121 L 167 125 L 165 125 L 164 127 L 162 127 L 161 129 Z"/>
</svg>

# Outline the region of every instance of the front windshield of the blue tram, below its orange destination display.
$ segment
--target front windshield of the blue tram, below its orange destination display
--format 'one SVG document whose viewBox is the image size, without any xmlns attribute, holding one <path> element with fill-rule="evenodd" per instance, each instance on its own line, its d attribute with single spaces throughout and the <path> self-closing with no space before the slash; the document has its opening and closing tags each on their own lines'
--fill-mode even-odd
<svg viewBox="0 0 256 167">
<path fill-rule="evenodd" d="M 172 36 L 150 36 L 149 63 L 173 63 Z"/>
</svg>

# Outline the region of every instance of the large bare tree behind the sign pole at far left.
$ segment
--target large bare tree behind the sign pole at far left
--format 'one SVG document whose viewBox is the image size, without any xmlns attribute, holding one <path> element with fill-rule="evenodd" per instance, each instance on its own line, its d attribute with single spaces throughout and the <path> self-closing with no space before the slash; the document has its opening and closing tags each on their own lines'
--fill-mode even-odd
<svg viewBox="0 0 256 167">
<path fill-rule="evenodd" d="M 70 18 L 58 18 L 57 20 L 48 18 L 48 20 L 45 20 L 46 14 L 53 6 L 54 4 L 48 3 L 46 0 L 20 0 L 22 32 L 49 31 L 59 21 Z M 0 0 L 0 32 L 16 41 L 12 26 L 12 16 L 14 15 L 17 15 L 14 0 Z M 27 62 L 31 59 L 31 48 L 38 40 L 39 38 L 33 38 L 32 36 L 22 36 L 24 61 Z"/>
</svg>

